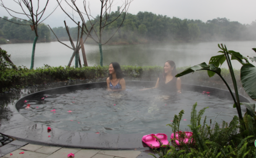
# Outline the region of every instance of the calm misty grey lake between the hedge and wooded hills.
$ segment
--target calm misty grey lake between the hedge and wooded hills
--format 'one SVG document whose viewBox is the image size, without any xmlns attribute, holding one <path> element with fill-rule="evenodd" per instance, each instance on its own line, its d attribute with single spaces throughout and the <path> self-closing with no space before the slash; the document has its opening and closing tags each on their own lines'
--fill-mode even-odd
<svg viewBox="0 0 256 158">
<path fill-rule="evenodd" d="M 68 41 L 63 42 L 70 45 Z M 240 52 L 243 56 L 255 57 L 252 48 L 256 47 L 256 41 L 232 41 L 232 42 L 203 42 L 180 44 L 136 44 L 136 45 L 103 45 L 103 65 L 118 62 L 121 65 L 137 66 L 163 66 L 165 61 L 173 60 L 176 67 L 194 66 L 199 63 L 209 62 L 210 57 L 220 55 L 217 44 L 226 44 L 229 50 Z M 17 66 L 30 68 L 32 43 L 26 44 L 0 44 L 0 47 L 11 54 L 11 60 Z M 85 44 L 88 65 L 100 63 L 100 53 L 97 44 Z M 59 42 L 36 44 L 34 68 L 44 64 L 50 66 L 65 66 L 68 64 L 73 50 Z M 80 51 L 80 56 L 81 51 Z M 81 61 L 83 64 L 83 61 Z M 232 62 L 235 69 L 240 69 L 241 64 Z M 255 63 L 254 63 L 255 64 Z M 74 65 L 74 60 L 72 62 Z M 225 63 L 223 67 L 227 68 Z"/>
</svg>

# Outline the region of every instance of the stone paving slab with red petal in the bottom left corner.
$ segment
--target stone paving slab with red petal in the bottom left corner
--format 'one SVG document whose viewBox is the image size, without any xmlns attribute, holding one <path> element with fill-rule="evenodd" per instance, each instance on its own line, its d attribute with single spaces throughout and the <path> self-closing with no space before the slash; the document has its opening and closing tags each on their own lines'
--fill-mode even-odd
<svg viewBox="0 0 256 158">
<path fill-rule="evenodd" d="M 24 154 L 20 154 L 20 152 L 24 152 Z M 37 152 L 30 152 L 24 150 L 15 150 L 11 152 L 13 155 L 10 156 L 10 153 L 6 154 L 4 157 L 6 158 L 46 158 L 47 154 L 37 153 Z"/>
</svg>

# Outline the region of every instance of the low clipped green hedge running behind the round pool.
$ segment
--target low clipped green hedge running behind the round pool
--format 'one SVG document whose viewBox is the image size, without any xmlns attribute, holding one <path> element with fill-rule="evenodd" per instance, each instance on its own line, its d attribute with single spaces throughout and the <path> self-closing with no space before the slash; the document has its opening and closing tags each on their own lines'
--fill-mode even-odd
<svg viewBox="0 0 256 158">
<path fill-rule="evenodd" d="M 177 68 L 182 72 L 187 67 Z M 123 74 L 128 78 L 143 78 L 148 81 L 155 81 L 159 73 L 163 71 L 160 66 L 121 66 Z M 236 78 L 239 78 L 239 71 L 236 70 Z M 108 66 L 93 67 L 42 67 L 35 70 L 19 68 L 19 70 L 7 69 L 0 71 L 0 91 L 16 86 L 27 86 L 47 82 L 66 81 L 68 79 L 95 79 L 108 76 Z M 222 76 L 230 80 L 229 70 L 222 69 Z M 220 77 L 214 76 L 209 79 L 206 71 L 198 71 L 194 74 L 182 76 L 182 80 L 214 80 L 221 81 Z M 231 81 L 231 80 L 230 80 Z"/>
</svg>

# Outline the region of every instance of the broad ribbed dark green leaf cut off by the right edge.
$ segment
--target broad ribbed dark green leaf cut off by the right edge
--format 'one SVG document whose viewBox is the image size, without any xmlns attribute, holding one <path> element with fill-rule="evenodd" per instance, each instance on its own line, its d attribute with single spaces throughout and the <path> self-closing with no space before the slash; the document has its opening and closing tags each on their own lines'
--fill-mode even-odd
<svg viewBox="0 0 256 158">
<path fill-rule="evenodd" d="M 245 92 L 256 100 L 256 67 L 250 63 L 244 64 L 240 78 Z"/>
</svg>

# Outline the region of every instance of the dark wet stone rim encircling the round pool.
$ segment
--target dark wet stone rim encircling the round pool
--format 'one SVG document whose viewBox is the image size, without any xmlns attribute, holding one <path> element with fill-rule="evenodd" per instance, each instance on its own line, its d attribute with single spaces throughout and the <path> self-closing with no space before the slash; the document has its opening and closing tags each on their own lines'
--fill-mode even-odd
<svg viewBox="0 0 256 158">
<path fill-rule="evenodd" d="M 126 81 L 127 86 L 141 86 L 141 87 L 153 87 L 155 82 L 147 81 Z M 109 150 L 147 150 L 148 146 L 141 142 L 141 138 L 145 134 L 106 134 L 106 133 L 85 133 L 67 131 L 58 128 L 52 128 L 52 131 L 47 132 L 45 125 L 35 123 L 32 120 L 28 120 L 21 115 L 17 109 L 23 103 L 24 100 L 34 97 L 40 97 L 44 94 L 51 94 L 54 92 L 63 92 L 70 90 L 79 90 L 85 88 L 102 88 L 107 87 L 106 82 L 94 82 L 84 83 L 70 86 L 63 86 L 58 88 L 52 88 L 42 90 L 30 95 L 26 95 L 20 98 L 15 103 L 15 108 L 11 121 L 8 125 L 0 126 L 0 132 L 14 137 L 16 139 L 26 141 L 28 143 L 40 144 L 40 145 L 53 145 L 69 148 L 87 148 L 87 149 L 109 149 Z M 194 90 L 198 92 L 209 91 L 211 95 L 216 95 L 220 98 L 227 98 L 232 100 L 232 97 L 227 90 L 212 88 L 206 86 L 182 84 L 182 89 Z M 250 102 L 243 95 L 239 95 L 241 102 Z M 171 130 L 170 130 L 171 131 Z M 170 140 L 171 132 L 166 133 L 168 140 Z M 50 137 L 48 137 L 50 136 Z"/>
</svg>

